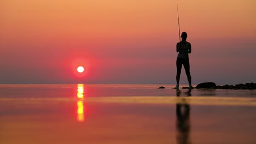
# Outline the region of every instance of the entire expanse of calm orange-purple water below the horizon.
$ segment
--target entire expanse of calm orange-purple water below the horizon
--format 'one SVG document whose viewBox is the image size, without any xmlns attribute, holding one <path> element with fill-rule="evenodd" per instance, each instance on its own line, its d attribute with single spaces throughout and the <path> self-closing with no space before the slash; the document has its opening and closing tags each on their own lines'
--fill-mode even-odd
<svg viewBox="0 0 256 144">
<path fill-rule="evenodd" d="M 256 91 L 164 86 L 0 85 L 0 143 L 256 143 Z"/>
</svg>

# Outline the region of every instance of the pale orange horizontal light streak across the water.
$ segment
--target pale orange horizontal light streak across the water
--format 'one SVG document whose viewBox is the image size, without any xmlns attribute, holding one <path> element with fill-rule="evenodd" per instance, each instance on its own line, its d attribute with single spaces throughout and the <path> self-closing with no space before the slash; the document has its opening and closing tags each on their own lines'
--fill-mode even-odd
<svg viewBox="0 0 256 144">
<path fill-rule="evenodd" d="M 73 101 L 68 98 L 0 98 L 0 101 L 9 101 L 10 103 L 42 103 L 43 101 L 51 101 L 58 103 L 59 101 Z M 83 100 L 82 100 L 83 101 Z M 86 103 L 118 103 L 118 104 L 176 104 L 189 103 L 192 105 L 245 105 L 256 106 L 255 98 L 227 98 L 227 97 L 95 97 L 86 98 Z"/>
</svg>

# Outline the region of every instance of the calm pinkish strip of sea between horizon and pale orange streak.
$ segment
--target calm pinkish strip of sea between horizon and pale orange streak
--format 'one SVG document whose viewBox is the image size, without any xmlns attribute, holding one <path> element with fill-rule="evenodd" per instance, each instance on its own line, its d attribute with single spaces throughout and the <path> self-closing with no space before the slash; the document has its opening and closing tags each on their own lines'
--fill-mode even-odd
<svg viewBox="0 0 256 144">
<path fill-rule="evenodd" d="M 158 89 L 164 86 L 166 89 Z M 187 86 L 181 85 L 180 87 Z M 75 98 L 79 91 L 84 97 L 177 96 L 175 85 L 0 85 L 0 98 Z M 182 92 L 188 89 L 181 89 Z M 198 97 L 256 97 L 256 90 L 193 89 Z"/>
</svg>

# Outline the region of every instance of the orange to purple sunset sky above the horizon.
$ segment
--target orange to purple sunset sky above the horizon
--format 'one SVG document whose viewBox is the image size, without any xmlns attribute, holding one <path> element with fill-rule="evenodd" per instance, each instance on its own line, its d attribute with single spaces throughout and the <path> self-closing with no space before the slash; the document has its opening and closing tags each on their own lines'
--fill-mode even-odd
<svg viewBox="0 0 256 144">
<path fill-rule="evenodd" d="M 178 6 L 193 84 L 256 82 L 255 1 Z M 2 0 L 0 21 L 0 83 L 176 83 L 174 0 Z"/>
</svg>

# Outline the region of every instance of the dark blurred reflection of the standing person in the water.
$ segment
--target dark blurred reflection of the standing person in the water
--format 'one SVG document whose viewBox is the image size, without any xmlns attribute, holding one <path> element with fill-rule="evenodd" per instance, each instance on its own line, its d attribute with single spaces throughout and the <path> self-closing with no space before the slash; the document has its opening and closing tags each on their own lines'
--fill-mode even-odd
<svg viewBox="0 0 256 144">
<path fill-rule="evenodd" d="M 188 94 L 188 96 L 191 96 Z M 177 94 L 177 97 L 179 95 Z M 189 104 L 176 104 L 177 143 L 190 144 L 190 106 Z"/>
</svg>

